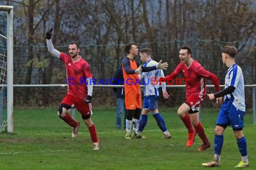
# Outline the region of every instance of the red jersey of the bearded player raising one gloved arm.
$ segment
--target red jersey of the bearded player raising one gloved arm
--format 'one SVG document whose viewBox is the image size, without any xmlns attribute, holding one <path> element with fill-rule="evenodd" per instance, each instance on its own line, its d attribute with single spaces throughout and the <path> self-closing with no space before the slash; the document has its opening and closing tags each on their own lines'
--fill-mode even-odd
<svg viewBox="0 0 256 170">
<path fill-rule="evenodd" d="M 73 83 L 68 83 L 68 94 L 76 98 L 84 99 L 87 97 L 88 89 L 86 78 L 93 78 L 89 64 L 82 58 L 76 62 L 71 59 L 70 55 L 61 53 L 60 59 L 66 66 L 67 81 L 73 80 Z"/>
</svg>

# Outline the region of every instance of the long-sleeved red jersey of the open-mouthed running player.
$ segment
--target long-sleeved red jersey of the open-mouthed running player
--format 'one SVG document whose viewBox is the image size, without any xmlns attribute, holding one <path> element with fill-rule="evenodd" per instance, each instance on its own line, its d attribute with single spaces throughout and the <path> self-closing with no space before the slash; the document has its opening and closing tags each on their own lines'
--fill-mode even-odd
<svg viewBox="0 0 256 170">
<path fill-rule="evenodd" d="M 175 68 L 174 72 L 166 76 L 164 80 L 168 81 L 168 79 L 174 79 L 179 74 L 182 74 L 183 78 L 186 80 L 186 94 L 193 93 L 195 95 L 206 95 L 206 84 L 204 78 L 212 80 L 216 92 L 220 91 L 218 78 L 211 72 L 204 69 L 203 66 L 194 59 L 189 67 L 187 67 L 185 63 L 180 63 Z"/>
</svg>

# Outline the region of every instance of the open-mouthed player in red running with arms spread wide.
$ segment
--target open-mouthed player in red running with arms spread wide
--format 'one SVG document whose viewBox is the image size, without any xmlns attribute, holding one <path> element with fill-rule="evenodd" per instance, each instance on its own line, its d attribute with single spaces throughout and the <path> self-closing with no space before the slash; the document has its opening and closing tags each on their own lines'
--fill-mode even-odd
<svg viewBox="0 0 256 170">
<path fill-rule="evenodd" d="M 179 52 L 181 63 L 175 68 L 172 74 L 161 78 L 161 81 L 168 82 L 168 80 L 173 80 L 179 74 L 186 80 L 186 101 L 178 109 L 178 115 L 189 132 L 187 146 L 190 147 L 194 144 L 194 137 L 197 133 L 203 141 L 198 151 L 202 151 L 211 146 L 204 133 L 203 125 L 199 122 L 199 106 L 206 97 L 204 78 L 212 80 L 216 92 L 220 91 L 220 83 L 214 74 L 205 70 L 199 62 L 191 58 L 191 52 L 190 47 L 182 46 Z M 216 98 L 216 101 L 217 103 L 221 102 L 221 98 Z"/>
</svg>

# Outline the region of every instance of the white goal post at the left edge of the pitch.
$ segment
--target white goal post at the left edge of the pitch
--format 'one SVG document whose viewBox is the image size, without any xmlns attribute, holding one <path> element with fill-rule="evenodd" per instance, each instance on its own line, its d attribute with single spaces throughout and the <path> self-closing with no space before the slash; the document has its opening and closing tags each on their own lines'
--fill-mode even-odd
<svg viewBox="0 0 256 170">
<path fill-rule="evenodd" d="M 7 132 L 13 133 L 13 6 L 0 5 L 0 12 L 6 13 L 7 20 L 7 34 L 0 35 L 7 39 Z"/>
</svg>

